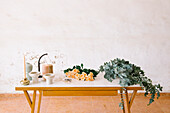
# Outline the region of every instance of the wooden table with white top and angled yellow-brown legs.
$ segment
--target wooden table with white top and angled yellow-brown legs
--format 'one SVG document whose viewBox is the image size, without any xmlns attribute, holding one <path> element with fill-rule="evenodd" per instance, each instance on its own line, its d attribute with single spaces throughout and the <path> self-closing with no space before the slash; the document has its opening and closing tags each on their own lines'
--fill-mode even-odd
<svg viewBox="0 0 170 113">
<path fill-rule="evenodd" d="M 28 86 L 18 85 L 15 87 L 16 91 L 23 91 L 26 99 L 31 108 L 31 113 L 34 113 L 36 94 L 39 92 L 38 110 L 40 112 L 41 98 L 43 96 L 116 96 L 118 95 L 118 90 L 120 91 L 121 103 L 124 109 L 124 98 L 125 95 L 127 103 L 127 112 L 130 113 L 130 108 L 132 106 L 133 100 L 138 90 L 142 90 L 139 86 L 121 87 L 118 84 L 118 80 L 112 83 L 99 77 L 95 81 L 77 81 L 73 80 L 71 83 L 65 83 L 62 79 L 56 79 L 53 84 L 46 85 L 45 82 L 40 82 L 38 84 L 30 84 Z M 128 91 L 132 90 L 133 94 L 131 98 L 128 97 Z M 33 91 L 33 98 L 31 100 L 28 91 Z"/>
</svg>

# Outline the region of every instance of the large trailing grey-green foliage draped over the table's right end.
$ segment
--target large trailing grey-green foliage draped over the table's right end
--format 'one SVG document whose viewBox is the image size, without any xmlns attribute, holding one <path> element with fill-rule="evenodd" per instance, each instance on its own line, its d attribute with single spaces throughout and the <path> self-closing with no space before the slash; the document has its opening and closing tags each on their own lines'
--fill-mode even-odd
<svg viewBox="0 0 170 113">
<path fill-rule="evenodd" d="M 154 102 L 156 93 L 157 99 L 160 97 L 160 91 L 163 87 L 160 84 L 153 85 L 152 80 L 145 76 L 144 71 L 140 67 L 129 63 L 129 61 L 117 58 L 101 65 L 99 71 L 105 72 L 104 78 L 110 82 L 115 78 L 120 78 L 119 84 L 122 87 L 136 84 L 144 87 L 145 96 L 151 94 L 148 105 Z"/>
</svg>

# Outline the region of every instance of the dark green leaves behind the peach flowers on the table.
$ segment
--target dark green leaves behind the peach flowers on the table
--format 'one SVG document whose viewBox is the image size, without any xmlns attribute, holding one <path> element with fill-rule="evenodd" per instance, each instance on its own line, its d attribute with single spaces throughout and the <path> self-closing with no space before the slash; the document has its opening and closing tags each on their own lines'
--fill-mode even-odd
<svg viewBox="0 0 170 113">
<path fill-rule="evenodd" d="M 68 68 L 66 70 L 64 70 L 64 73 L 66 72 L 69 72 L 69 71 L 72 71 L 73 69 L 78 69 L 80 72 L 79 74 L 81 74 L 82 72 L 85 72 L 86 74 L 89 74 L 90 72 L 93 73 L 93 77 L 95 78 L 97 76 L 97 74 L 99 73 L 99 71 L 96 71 L 94 69 L 86 69 L 86 68 L 83 68 L 83 64 L 81 64 L 80 66 L 79 65 L 76 65 L 76 66 L 73 66 L 73 68 Z"/>
</svg>

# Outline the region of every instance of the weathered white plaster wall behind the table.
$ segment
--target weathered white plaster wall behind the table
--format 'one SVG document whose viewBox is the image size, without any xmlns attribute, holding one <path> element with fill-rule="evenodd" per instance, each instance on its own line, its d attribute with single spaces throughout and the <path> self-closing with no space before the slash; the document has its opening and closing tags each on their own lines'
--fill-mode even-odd
<svg viewBox="0 0 170 113">
<path fill-rule="evenodd" d="M 119 57 L 170 92 L 169 41 L 170 0 L 0 0 L 0 93 L 16 93 L 24 52 L 55 50 L 55 71 Z"/>
</svg>

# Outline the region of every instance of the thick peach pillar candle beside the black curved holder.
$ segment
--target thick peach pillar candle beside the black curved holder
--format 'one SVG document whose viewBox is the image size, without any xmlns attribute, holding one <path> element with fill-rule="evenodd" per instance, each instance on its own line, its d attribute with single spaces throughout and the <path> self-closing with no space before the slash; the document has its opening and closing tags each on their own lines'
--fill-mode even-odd
<svg viewBox="0 0 170 113">
<path fill-rule="evenodd" d="M 42 74 L 53 73 L 53 65 L 52 64 L 43 64 L 42 65 Z"/>
</svg>

